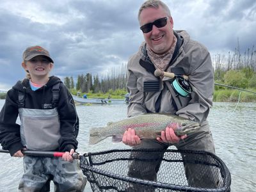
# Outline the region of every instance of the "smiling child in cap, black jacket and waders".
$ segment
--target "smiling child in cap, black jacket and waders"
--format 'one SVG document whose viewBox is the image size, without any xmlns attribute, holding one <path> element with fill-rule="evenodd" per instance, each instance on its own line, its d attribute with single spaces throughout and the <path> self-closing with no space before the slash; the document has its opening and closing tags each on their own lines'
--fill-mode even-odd
<svg viewBox="0 0 256 192">
<path fill-rule="evenodd" d="M 0 142 L 13 157 L 24 157 L 19 191 L 83 191 L 86 178 L 72 154 L 79 120 L 74 100 L 58 77 L 49 77 L 53 60 L 40 46 L 28 47 L 22 67 L 28 73 L 6 95 L 0 113 Z M 16 124 L 20 116 L 20 125 Z M 24 156 L 21 150 L 61 151 L 60 157 Z"/>
</svg>

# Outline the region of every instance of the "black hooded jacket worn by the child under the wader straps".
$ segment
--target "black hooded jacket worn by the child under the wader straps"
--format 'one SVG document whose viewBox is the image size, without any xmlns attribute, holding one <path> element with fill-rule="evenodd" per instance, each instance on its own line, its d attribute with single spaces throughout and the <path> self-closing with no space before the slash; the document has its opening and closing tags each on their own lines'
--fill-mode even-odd
<svg viewBox="0 0 256 192">
<path fill-rule="evenodd" d="M 23 92 L 24 108 L 43 109 L 43 106 L 52 104 L 52 86 L 60 83 L 59 99 L 56 107 L 60 116 L 59 148 L 56 150 L 65 152 L 71 148 L 77 148 L 77 134 L 79 131 L 79 119 L 72 96 L 66 86 L 58 77 L 51 76 L 48 83 L 36 91 L 31 90 L 29 80 L 18 81 L 7 92 L 4 106 L 0 113 L 0 143 L 3 149 L 10 150 L 11 156 L 24 148 L 20 143 L 20 125 L 16 124 L 19 115 L 18 92 Z M 45 105 L 46 104 L 46 105 Z M 54 106 L 52 106 L 53 108 Z"/>
</svg>

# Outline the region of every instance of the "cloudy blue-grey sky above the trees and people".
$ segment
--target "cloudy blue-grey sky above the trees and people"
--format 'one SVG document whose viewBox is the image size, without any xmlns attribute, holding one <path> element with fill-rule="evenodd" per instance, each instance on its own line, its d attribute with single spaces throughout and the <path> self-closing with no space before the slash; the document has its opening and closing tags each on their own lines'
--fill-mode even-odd
<svg viewBox="0 0 256 192">
<path fill-rule="evenodd" d="M 126 65 L 143 42 L 137 19 L 143 0 L 1 0 L 0 90 L 25 76 L 22 53 L 41 45 L 54 60 L 51 75 L 104 76 Z M 175 30 L 186 30 L 211 55 L 256 45 L 255 0 L 163 0 Z M 75 81 L 76 82 L 76 81 Z"/>
</svg>

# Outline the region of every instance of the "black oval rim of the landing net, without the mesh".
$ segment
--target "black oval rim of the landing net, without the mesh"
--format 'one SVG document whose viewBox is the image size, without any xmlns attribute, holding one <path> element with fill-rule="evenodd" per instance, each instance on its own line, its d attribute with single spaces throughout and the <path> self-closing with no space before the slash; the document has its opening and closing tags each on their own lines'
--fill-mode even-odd
<svg viewBox="0 0 256 192">
<path fill-rule="evenodd" d="M 175 185 L 175 184 L 165 184 L 163 182 L 157 182 L 157 181 L 152 181 L 152 180 L 142 180 L 142 179 L 136 179 L 136 178 L 132 178 L 132 177 L 128 177 L 128 176 L 124 176 L 124 175 L 119 175 L 116 173 L 111 173 L 105 170 L 100 170 L 99 168 L 93 167 L 93 166 L 97 166 L 100 164 L 104 164 L 104 163 L 111 163 L 112 161 L 136 161 L 136 159 L 132 159 L 131 157 L 127 157 L 127 158 L 117 158 L 115 160 L 106 160 L 102 163 L 95 163 L 93 162 L 93 156 L 100 156 L 102 154 L 115 154 L 116 152 L 159 152 L 159 151 L 163 151 L 163 152 L 171 152 L 171 153 L 193 153 L 193 154 L 202 154 L 202 155 L 207 155 L 207 156 L 211 156 L 213 157 L 216 161 L 218 161 L 218 163 L 220 163 L 220 166 L 216 166 L 216 164 L 209 164 L 209 163 L 205 163 L 204 161 L 198 161 L 198 164 L 205 164 L 205 165 L 211 165 L 211 166 L 216 166 L 218 168 L 220 168 L 221 170 L 221 176 L 223 177 L 223 186 L 221 188 L 218 189 L 208 189 L 208 188 L 195 188 L 195 187 L 191 187 L 191 186 L 179 186 L 179 185 Z M 88 159 L 87 159 L 88 158 Z M 141 159 L 140 159 L 141 160 Z M 143 159 L 142 159 L 143 160 Z M 145 159 L 147 160 L 147 159 Z M 170 161 L 168 159 L 163 159 L 167 162 L 180 162 L 180 161 Z M 231 176 L 230 176 L 230 172 L 228 171 L 227 166 L 225 165 L 225 163 L 223 163 L 223 161 L 220 159 L 220 157 L 210 153 L 210 152 L 204 152 L 204 151 L 189 151 L 189 150 L 155 150 L 155 149 L 143 149 L 143 150 L 134 150 L 134 149 L 124 149 L 124 150 L 106 150 L 106 151 L 102 151 L 102 152 L 89 152 L 88 154 L 84 154 L 84 156 L 81 156 L 80 159 L 80 166 L 83 170 L 84 173 L 86 172 L 91 172 L 91 173 L 97 173 L 99 175 L 103 175 L 112 179 L 116 179 L 116 180 L 122 180 L 125 182 L 131 182 L 132 184 L 140 184 L 142 186 L 150 186 L 153 188 L 159 188 L 159 189 L 170 189 L 170 190 L 175 190 L 175 191 L 211 191 L 211 192 L 221 192 L 221 191 L 230 191 L 230 184 L 231 184 Z M 93 178 L 89 178 L 88 177 L 88 181 L 90 183 L 94 183 L 94 184 L 98 184 L 97 180 L 94 180 Z M 100 189 L 108 189 L 108 186 L 98 186 Z M 115 189 L 115 187 L 111 187 L 111 189 Z M 118 189 L 116 189 L 116 191 L 118 191 Z"/>
</svg>

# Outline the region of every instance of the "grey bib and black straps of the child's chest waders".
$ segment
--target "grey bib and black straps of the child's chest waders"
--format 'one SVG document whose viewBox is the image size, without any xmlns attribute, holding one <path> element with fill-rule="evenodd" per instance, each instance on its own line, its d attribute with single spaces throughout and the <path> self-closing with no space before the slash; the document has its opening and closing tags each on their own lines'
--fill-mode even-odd
<svg viewBox="0 0 256 192">
<path fill-rule="evenodd" d="M 19 92 L 20 138 L 29 150 L 56 150 L 60 140 L 60 118 L 56 108 L 60 83 L 52 86 L 52 103 L 44 109 L 25 108 L 25 93 Z M 50 108 L 50 109 L 49 109 Z"/>
</svg>

